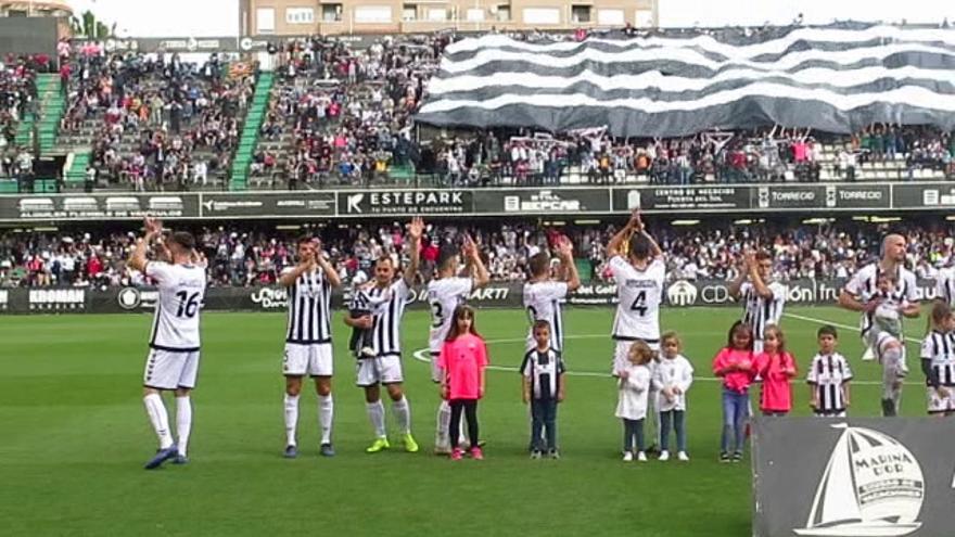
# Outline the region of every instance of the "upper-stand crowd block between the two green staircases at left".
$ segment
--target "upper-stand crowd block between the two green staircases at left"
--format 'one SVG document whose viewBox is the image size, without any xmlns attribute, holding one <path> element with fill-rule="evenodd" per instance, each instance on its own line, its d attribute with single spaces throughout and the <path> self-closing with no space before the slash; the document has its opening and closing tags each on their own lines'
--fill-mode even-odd
<svg viewBox="0 0 955 537">
<path fill-rule="evenodd" d="M 61 71 L 68 108 L 61 135 L 96 125 L 96 179 L 133 190 L 184 190 L 227 170 L 254 90 L 213 54 L 107 54 L 85 48 Z M 200 155 L 202 152 L 202 155 Z"/>
</svg>

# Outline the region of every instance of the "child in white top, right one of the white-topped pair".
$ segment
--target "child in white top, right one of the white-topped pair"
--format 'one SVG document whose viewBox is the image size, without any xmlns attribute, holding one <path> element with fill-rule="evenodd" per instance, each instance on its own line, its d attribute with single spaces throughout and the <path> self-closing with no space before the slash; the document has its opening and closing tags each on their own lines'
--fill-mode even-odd
<svg viewBox="0 0 955 537">
<path fill-rule="evenodd" d="M 690 460 L 686 452 L 686 393 L 693 383 L 693 367 L 679 351 L 683 345 L 676 332 L 660 338 L 662 357 L 653 372 L 653 387 L 659 391 L 660 460 L 670 460 L 670 430 L 676 431 L 676 458 Z"/>
</svg>

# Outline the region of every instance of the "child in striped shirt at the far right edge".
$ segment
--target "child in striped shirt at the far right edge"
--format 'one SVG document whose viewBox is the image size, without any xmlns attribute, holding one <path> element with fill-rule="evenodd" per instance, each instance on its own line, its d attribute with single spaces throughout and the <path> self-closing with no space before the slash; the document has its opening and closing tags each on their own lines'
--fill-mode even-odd
<svg viewBox="0 0 955 537">
<path fill-rule="evenodd" d="M 955 413 L 955 315 L 942 302 L 932 306 L 932 330 L 921 342 L 929 413 Z"/>
</svg>

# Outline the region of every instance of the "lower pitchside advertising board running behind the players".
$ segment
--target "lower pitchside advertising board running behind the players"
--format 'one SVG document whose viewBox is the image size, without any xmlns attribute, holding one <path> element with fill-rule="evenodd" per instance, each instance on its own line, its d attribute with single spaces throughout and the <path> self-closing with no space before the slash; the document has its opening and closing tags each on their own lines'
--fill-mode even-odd
<svg viewBox="0 0 955 537">
<path fill-rule="evenodd" d="M 844 280 L 791 280 L 786 282 L 789 304 L 833 304 Z M 492 282 L 475 290 L 468 303 L 479 308 L 523 307 L 521 282 Z M 935 287 L 931 280 L 919 280 L 918 295 L 934 298 Z M 408 307 L 426 308 L 421 301 L 424 287 L 411 291 Z M 676 280 L 663 286 L 667 307 L 729 306 L 737 304 L 729 296 L 729 282 L 724 280 Z M 152 311 L 158 292 L 151 287 L 116 287 L 105 291 L 93 289 L 11 289 L 0 290 L 0 314 L 79 312 L 114 314 Z M 347 290 L 336 290 L 332 295 L 334 308 L 348 303 Z M 288 294 L 283 287 L 209 287 L 203 308 L 221 311 L 282 311 L 288 307 Z M 587 282 L 568 296 L 571 306 L 613 306 L 616 304 L 616 285 L 612 282 Z"/>
</svg>

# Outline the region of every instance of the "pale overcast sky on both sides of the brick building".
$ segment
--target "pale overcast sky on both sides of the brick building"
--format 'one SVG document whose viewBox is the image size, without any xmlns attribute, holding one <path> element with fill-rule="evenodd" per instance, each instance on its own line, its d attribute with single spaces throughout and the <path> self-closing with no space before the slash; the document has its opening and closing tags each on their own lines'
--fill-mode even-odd
<svg viewBox="0 0 955 537">
<path fill-rule="evenodd" d="M 238 0 L 67 0 L 74 10 L 93 12 L 116 22 L 120 36 L 234 36 L 239 31 Z M 660 0 L 662 26 L 786 24 L 803 13 L 807 24 L 833 18 L 939 23 L 955 21 L 948 0 Z M 124 31 L 125 30 L 125 31 Z"/>
</svg>

